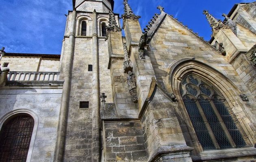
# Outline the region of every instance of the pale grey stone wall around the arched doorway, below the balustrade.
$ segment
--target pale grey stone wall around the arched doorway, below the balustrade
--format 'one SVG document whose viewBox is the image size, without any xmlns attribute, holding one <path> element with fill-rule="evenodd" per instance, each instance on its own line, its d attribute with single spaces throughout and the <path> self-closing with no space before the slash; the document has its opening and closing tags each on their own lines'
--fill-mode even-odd
<svg viewBox="0 0 256 162">
<path fill-rule="evenodd" d="M 1 87 L 0 119 L 12 111 L 25 109 L 35 113 L 36 116 L 33 117 L 39 120 L 39 123 L 35 122 L 38 126 L 37 131 L 33 132 L 36 138 L 31 149 L 33 150 L 31 162 L 53 161 L 61 93 L 61 87 Z"/>
</svg>

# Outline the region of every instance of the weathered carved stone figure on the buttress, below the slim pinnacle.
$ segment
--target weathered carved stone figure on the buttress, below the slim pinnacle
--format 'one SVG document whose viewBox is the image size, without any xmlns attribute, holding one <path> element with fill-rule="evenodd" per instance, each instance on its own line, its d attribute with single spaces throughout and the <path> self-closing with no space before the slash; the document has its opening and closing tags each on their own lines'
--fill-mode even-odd
<svg viewBox="0 0 256 162">
<path fill-rule="evenodd" d="M 131 71 L 128 72 L 127 83 L 129 85 L 129 92 L 130 92 L 130 95 L 132 96 L 132 100 L 133 102 L 137 103 L 138 97 L 137 97 L 136 79 L 135 79 L 134 73 Z"/>
</svg>

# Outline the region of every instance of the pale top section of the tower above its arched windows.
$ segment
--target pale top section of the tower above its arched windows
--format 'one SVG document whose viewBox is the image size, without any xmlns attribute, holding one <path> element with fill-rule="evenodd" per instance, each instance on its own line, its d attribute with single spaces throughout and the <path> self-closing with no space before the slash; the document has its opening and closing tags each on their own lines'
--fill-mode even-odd
<svg viewBox="0 0 256 162">
<path fill-rule="evenodd" d="M 76 11 L 92 12 L 95 9 L 98 13 L 108 13 L 113 11 L 114 0 L 73 0 L 73 7 Z"/>
</svg>

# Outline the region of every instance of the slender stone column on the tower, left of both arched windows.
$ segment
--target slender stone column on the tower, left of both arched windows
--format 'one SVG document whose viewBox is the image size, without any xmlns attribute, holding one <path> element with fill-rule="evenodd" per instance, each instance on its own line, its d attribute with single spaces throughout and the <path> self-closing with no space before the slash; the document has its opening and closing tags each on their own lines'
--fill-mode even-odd
<svg viewBox="0 0 256 162">
<path fill-rule="evenodd" d="M 76 10 L 72 12 L 72 22 L 71 29 L 69 33 L 69 51 L 67 52 L 67 62 L 64 72 L 64 83 L 61 96 L 61 109 L 59 114 L 59 123 L 58 123 L 58 132 L 57 132 L 57 141 L 54 151 L 54 162 L 62 162 L 63 160 L 63 151 L 64 151 L 64 141 L 65 141 L 65 132 L 67 124 L 67 114 L 69 106 L 69 95 L 70 95 L 70 85 L 72 77 L 72 63 L 74 58 L 74 40 L 75 40 L 75 25 L 76 25 Z"/>
</svg>

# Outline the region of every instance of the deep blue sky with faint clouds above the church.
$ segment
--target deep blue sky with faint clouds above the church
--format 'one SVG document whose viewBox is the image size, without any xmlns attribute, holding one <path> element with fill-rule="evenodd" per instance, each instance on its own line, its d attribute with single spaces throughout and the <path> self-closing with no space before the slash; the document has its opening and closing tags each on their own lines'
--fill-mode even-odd
<svg viewBox="0 0 256 162">
<path fill-rule="evenodd" d="M 145 28 L 158 5 L 184 25 L 210 39 L 211 28 L 202 14 L 206 9 L 217 19 L 235 3 L 255 0 L 129 0 L 141 28 Z M 123 0 L 115 0 L 115 13 L 123 13 Z M 0 47 L 13 53 L 61 53 L 63 34 L 72 0 L 0 0 Z"/>
</svg>

